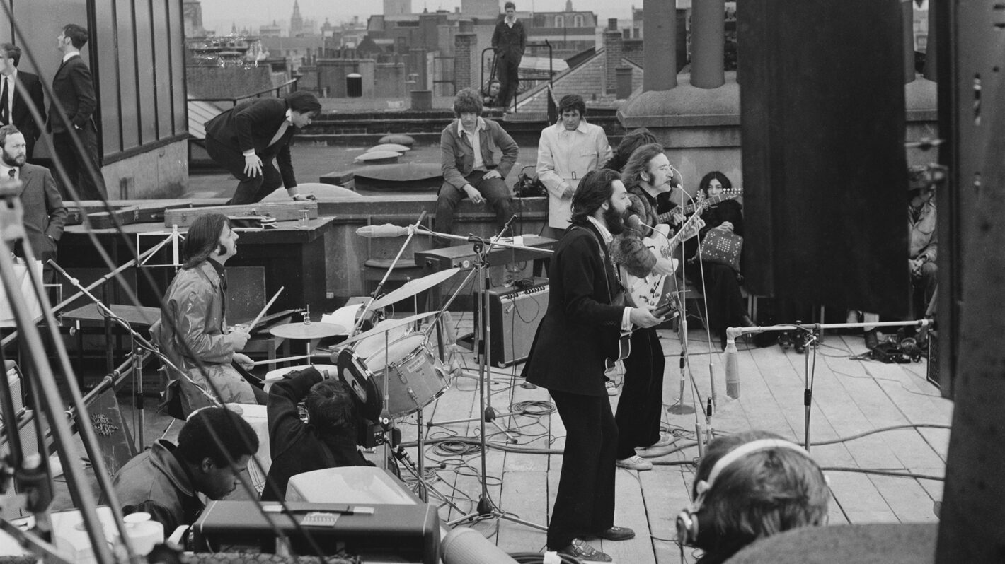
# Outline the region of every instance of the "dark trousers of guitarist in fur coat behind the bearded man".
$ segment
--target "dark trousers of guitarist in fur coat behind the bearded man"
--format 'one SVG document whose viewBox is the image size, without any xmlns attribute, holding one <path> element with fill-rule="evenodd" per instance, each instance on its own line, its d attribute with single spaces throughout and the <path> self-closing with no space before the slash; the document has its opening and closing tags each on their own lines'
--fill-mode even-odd
<svg viewBox="0 0 1005 564">
<path fill-rule="evenodd" d="M 635 329 L 631 334 L 631 354 L 624 359 L 625 383 L 618 399 L 618 460 L 631 458 L 636 447 L 659 441 L 663 415 L 663 345 L 656 330 Z"/>
</svg>

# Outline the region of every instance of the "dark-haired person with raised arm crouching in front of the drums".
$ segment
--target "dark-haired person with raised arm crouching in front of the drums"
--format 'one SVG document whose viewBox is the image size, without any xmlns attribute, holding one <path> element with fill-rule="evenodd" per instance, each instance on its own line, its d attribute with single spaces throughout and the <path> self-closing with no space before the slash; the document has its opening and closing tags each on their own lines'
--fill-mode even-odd
<svg viewBox="0 0 1005 564">
<path fill-rule="evenodd" d="M 333 374 L 334 376 L 334 374 Z M 377 419 L 381 395 L 367 380 L 367 401 L 353 389 L 317 368 L 295 370 L 272 384 L 268 393 L 268 442 L 272 466 L 268 470 L 262 501 L 286 497 L 289 478 L 305 472 L 344 466 L 372 466 L 356 448 L 367 419 Z M 307 398 L 308 422 L 300 420 L 296 404 Z"/>
</svg>

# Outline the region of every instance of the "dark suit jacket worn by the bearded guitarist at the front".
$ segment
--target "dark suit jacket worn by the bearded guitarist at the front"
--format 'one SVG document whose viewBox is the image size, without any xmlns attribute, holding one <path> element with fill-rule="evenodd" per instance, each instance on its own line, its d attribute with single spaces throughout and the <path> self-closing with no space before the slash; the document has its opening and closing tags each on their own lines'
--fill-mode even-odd
<svg viewBox="0 0 1005 564">
<path fill-rule="evenodd" d="M 590 222 L 573 226 L 552 256 L 548 311 L 528 359 L 527 381 L 606 395 L 604 360 L 616 352 L 624 307 L 610 305 L 618 280 L 607 253 L 601 254 L 597 229 Z"/>
</svg>

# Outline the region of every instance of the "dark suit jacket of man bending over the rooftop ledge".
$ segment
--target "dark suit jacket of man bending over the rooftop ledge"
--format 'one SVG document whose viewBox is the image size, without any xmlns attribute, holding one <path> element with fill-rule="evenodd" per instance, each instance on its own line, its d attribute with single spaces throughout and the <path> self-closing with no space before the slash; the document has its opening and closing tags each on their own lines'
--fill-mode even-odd
<svg viewBox="0 0 1005 564">
<path fill-rule="evenodd" d="M 237 153 L 254 150 L 262 164 L 275 159 L 282 176 L 282 186 L 293 188 L 293 162 L 289 157 L 289 140 L 296 127 L 289 125 L 281 137 L 271 146 L 279 125 L 286 119 L 286 100 L 282 98 L 255 98 L 235 105 L 206 121 L 206 136 Z"/>
</svg>

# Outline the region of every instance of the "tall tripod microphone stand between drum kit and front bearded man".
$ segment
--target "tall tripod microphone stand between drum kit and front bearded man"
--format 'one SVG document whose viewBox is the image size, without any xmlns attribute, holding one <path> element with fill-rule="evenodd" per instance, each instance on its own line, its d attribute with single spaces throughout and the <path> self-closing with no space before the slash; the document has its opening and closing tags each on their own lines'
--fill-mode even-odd
<svg viewBox="0 0 1005 564">
<path fill-rule="evenodd" d="M 500 234 L 501 233 L 507 233 L 507 231 L 510 229 L 510 224 L 513 223 L 513 221 L 514 221 L 514 219 L 516 219 L 516 217 L 517 216 L 513 216 L 512 218 L 510 218 L 510 221 L 508 221 L 507 224 L 502 227 L 502 230 L 500 231 Z M 479 440 L 480 447 L 481 447 L 481 451 L 479 453 L 479 456 L 480 456 L 480 459 L 481 459 L 481 474 L 479 476 L 479 479 L 480 479 L 479 481 L 481 482 L 481 494 L 478 497 L 478 504 L 477 504 L 474 512 L 468 513 L 467 515 L 464 515 L 464 516 L 461 516 L 461 517 L 459 517 L 457 519 L 454 519 L 453 521 L 447 523 L 447 526 L 448 527 L 452 527 L 452 526 L 456 525 L 457 523 L 468 521 L 468 520 L 474 519 L 476 517 L 481 517 L 481 518 L 484 518 L 484 517 L 493 517 L 493 518 L 496 518 L 496 519 L 506 519 L 508 521 L 512 521 L 514 523 L 519 523 L 521 525 L 526 525 L 528 527 L 532 527 L 532 528 L 535 528 L 535 529 L 538 529 L 538 530 L 541 530 L 541 531 L 547 531 L 548 530 L 547 527 L 544 527 L 542 525 L 538 525 L 536 523 L 531 523 L 530 521 L 524 521 L 523 519 L 520 519 L 520 518 L 518 518 L 518 517 L 516 517 L 514 515 L 511 515 L 509 513 L 500 510 L 498 508 L 498 506 L 495 505 L 495 503 L 492 501 L 491 497 L 489 497 L 489 495 L 488 495 L 488 484 L 487 484 L 487 482 L 488 482 L 488 479 L 487 479 L 488 471 L 487 471 L 486 462 L 485 462 L 486 452 L 487 452 L 487 447 L 485 445 L 485 422 L 490 421 L 492 425 L 494 425 L 496 429 L 498 429 L 504 435 L 507 436 L 509 442 L 511 442 L 511 443 L 516 443 L 517 442 L 517 440 L 514 439 L 513 437 L 511 437 L 510 434 L 507 433 L 506 430 L 504 430 L 498 425 L 498 422 L 495 420 L 496 413 L 492 409 L 492 406 L 491 406 L 491 389 L 490 389 L 489 381 L 488 381 L 488 378 L 489 378 L 489 375 L 488 375 L 488 372 L 489 372 L 489 369 L 488 369 L 488 358 L 489 358 L 489 354 L 491 352 L 491 339 L 489 338 L 490 337 L 490 331 L 491 331 L 491 329 L 490 329 L 491 325 L 490 325 L 489 320 L 488 320 L 488 311 L 489 311 L 489 307 L 488 307 L 488 266 L 489 266 L 488 265 L 488 254 L 491 252 L 492 248 L 496 247 L 496 246 L 497 247 L 509 248 L 509 249 L 531 249 L 531 250 L 538 250 L 538 251 L 540 251 L 541 249 L 534 249 L 533 247 L 525 247 L 523 245 L 515 245 L 515 244 L 512 244 L 512 243 L 505 243 L 502 241 L 499 241 L 500 237 L 493 237 L 493 238 L 485 241 L 484 239 L 482 239 L 480 237 L 475 237 L 473 235 L 467 236 L 467 237 L 462 237 L 462 236 L 453 235 L 453 234 L 449 234 L 449 233 L 436 233 L 436 232 L 433 232 L 433 231 L 430 231 L 430 230 L 425 230 L 425 229 L 422 229 L 422 228 L 419 228 L 419 229 L 421 229 L 422 231 L 428 232 L 428 233 L 430 233 L 432 235 L 435 235 L 437 237 L 441 237 L 443 239 L 453 239 L 455 241 L 470 242 L 470 243 L 473 244 L 474 254 L 477 257 L 477 259 L 475 260 L 474 269 L 471 270 L 470 273 L 468 273 L 467 278 L 465 278 L 464 282 L 461 284 L 461 286 L 458 287 L 457 291 L 454 292 L 454 295 L 450 297 L 450 300 L 447 301 L 447 303 L 444 305 L 444 307 L 441 308 L 441 311 L 439 313 L 440 316 L 443 315 L 443 312 L 446 311 L 447 307 L 449 307 L 450 302 L 452 302 L 453 299 L 457 296 L 457 292 L 460 291 L 460 288 L 463 287 L 463 285 L 466 284 L 471 279 L 471 277 L 476 274 L 478 276 L 478 292 L 479 292 L 478 312 L 480 314 L 479 322 L 477 323 L 477 325 L 475 325 L 475 331 L 476 331 L 476 335 L 475 335 L 475 337 L 476 337 L 475 338 L 475 351 L 478 354 L 478 385 L 479 385 L 479 390 L 478 390 L 478 407 L 479 407 L 479 410 L 481 411 L 481 416 L 478 417 L 478 422 L 479 422 L 479 426 L 480 426 L 480 430 L 479 430 L 480 433 L 479 433 L 478 440 Z M 438 321 L 438 317 L 434 319 L 434 322 L 435 321 Z M 514 413 L 507 413 L 507 414 L 508 415 L 512 415 Z M 442 421 L 442 422 L 440 422 L 438 425 L 446 425 L 448 422 L 460 422 L 461 420 L 463 420 L 463 421 L 470 421 L 470 420 L 473 420 L 473 417 L 469 418 L 469 419 L 457 419 L 457 420 L 454 420 L 454 421 Z M 427 425 L 431 426 L 432 422 L 427 424 Z M 419 433 L 421 434 L 422 432 L 423 432 L 423 430 L 420 428 L 419 429 Z"/>
</svg>

